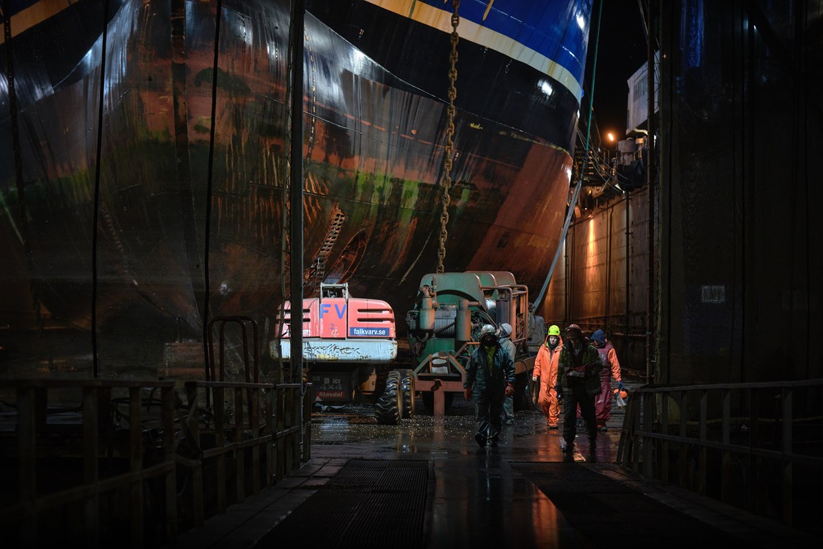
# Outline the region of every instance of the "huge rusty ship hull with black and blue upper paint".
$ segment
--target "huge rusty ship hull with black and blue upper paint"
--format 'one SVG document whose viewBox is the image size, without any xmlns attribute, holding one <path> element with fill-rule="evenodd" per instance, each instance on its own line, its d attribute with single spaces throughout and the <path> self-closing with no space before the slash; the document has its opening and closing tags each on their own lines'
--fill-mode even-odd
<svg viewBox="0 0 823 549">
<path fill-rule="evenodd" d="M 13 335 L 63 327 L 78 369 L 125 371 L 232 315 L 258 323 L 264 348 L 290 294 L 289 2 L 20 3 L 3 21 L 3 356 L 66 352 Z M 463 2 L 447 271 L 542 285 L 590 3 Z M 448 8 L 306 2 L 306 296 L 346 281 L 402 318 L 435 271 Z"/>
</svg>

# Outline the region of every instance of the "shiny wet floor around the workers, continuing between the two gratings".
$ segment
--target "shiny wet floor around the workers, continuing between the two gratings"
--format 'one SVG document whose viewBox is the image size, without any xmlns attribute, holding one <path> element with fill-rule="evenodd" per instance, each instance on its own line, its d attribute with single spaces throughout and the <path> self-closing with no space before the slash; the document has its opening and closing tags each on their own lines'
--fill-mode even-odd
<svg viewBox="0 0 823 549">
<path fill-rule="evenodd" d="M 419 402 L 419 401 L 418 401 Z M 537 485 L 517 472 L 518 463 L 614 462 L 624 413 L 614 407 L 607 432 L 598 433 L 588 454 L 584 429 L 579 449 L 560 451 L 560 429 L 549 430 L 540 411 L 515 412 L 500 444 L 481 448 L 474 440 L 474 405 L 456 395 L 442 417 L 423 406 L 396 426 L 380 425 L 374 407 L 351 404 L 312 415 L 312 458 L 405 459 L 430 463 L 429 549 L 439 547 L 592 547 L 579 527 Z M 388 534 L 387 534 L 388 535 Z"/>
</svg>

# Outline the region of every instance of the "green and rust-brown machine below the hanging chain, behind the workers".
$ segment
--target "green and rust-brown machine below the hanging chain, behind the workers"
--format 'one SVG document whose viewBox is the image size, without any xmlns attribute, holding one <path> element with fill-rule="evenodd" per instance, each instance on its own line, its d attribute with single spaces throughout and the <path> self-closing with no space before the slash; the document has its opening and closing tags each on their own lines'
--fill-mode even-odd
<svg viewBox="0 0 823 549">
<path fill-rule="evenodd" d="M 478 345 L 483 324 L 500 328 L 509 323 L 518 353 L 515 409 L 533 409 L 537 387 L 532 387 L 534 356 L 529 356 L 528 287 L 508 271 L 429 273 L 421 279 L 414 309 L 406 314 L 408 342 L 418 364 L 414 388 L 430 412 L 444 415 L 454 393 L 463 393 L 465 366 Z"/>
</svg>

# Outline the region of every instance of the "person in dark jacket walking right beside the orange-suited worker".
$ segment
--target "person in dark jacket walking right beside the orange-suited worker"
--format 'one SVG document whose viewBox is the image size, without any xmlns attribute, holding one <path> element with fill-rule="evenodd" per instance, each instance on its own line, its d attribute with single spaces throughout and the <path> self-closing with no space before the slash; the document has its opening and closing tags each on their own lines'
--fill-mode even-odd
<svg viewBox="0 0 823 549">
<path fill-rule="evenodd" d="M 577 436 L 575 420 L 577 407 L 586 422 L 588 448 L 594 451 L 597 439 L 597 419 L 594 416 L 594 398 L 601 392 L 600 353 L 584 342 L 583 331 L 577 324 L 570 324 L 565 330 L 563 348 L 557 361 L 557 382 L 555 389 L 563 395 L 563 440 L 560 449 L 571 452 Z"/>
</svg>

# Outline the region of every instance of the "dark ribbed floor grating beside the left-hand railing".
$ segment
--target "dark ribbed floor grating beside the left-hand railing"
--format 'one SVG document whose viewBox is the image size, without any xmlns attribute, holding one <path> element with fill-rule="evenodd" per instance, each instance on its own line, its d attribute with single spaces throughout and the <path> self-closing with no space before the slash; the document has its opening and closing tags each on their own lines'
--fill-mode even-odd
<svg viewBox="0 0 823 549">
<path fill-rule="evenodd" d="M 429 463 L 351 459 L 258 547 L 425 547 Z"/>
</svg>

